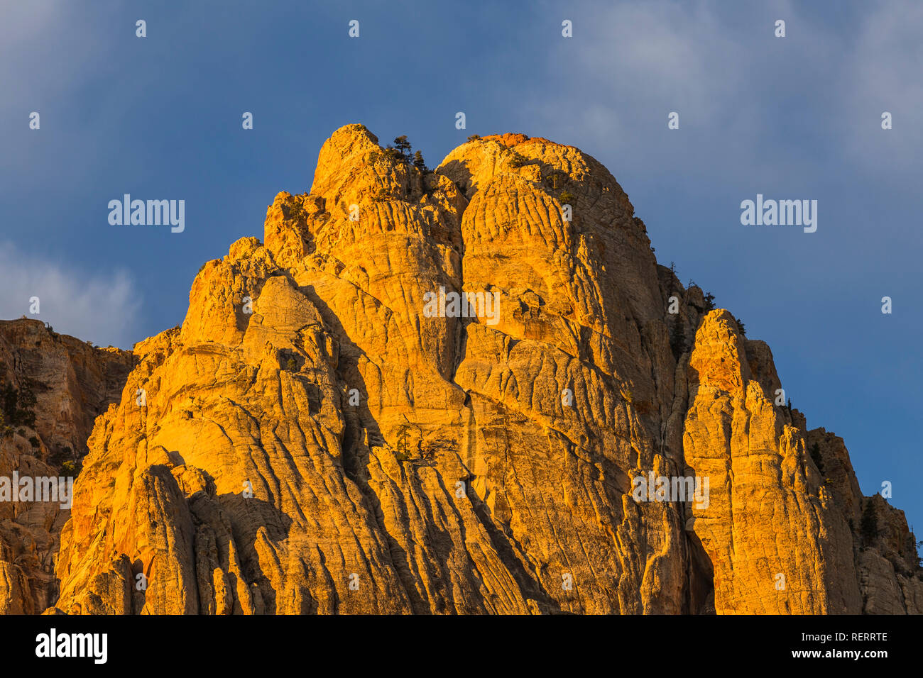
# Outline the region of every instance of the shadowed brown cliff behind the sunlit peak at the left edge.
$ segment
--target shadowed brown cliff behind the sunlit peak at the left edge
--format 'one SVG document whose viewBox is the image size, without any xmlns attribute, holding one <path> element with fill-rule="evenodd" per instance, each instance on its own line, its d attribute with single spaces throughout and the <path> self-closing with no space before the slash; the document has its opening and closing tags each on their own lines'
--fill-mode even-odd
<svg viewBox="0 0 923 678">
<path fill-rule="evenodd" d="M 93 348 L 38 320 L 0 321 L 0 386 L 35 396 L 34 425 L 10 426 L 0 411 L 0 477 L 73 476 L 96 415 L 119 398 L 132 366 L 127 351 Z M 69 514 L 61 503 L 0 501 L 0 613 L 41 613 L 55 601 Z"/>
</svg>

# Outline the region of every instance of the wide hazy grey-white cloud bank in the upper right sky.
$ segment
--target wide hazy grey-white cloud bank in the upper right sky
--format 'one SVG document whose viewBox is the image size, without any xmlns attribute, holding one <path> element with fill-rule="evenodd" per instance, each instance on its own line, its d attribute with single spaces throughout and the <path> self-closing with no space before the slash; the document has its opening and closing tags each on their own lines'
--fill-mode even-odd
<svg viewBox="0 0 923 678">
<path fill-rule="evenodd" d="M 820 163 L 916 163 L 923 4 L 845 9 L 831 21 L 785 0 L 578 4 L 574 37 L 547 50 L 557 89 L 523 92 L 523 122 L 636 172 L 668 163 L 711 181 L 765 184 L 784 167 L 810 182 Z M 785 38 L 773 35 L 777 18 Z M 672 111 L 676 133 L 666 127 Z M 882 111 L 894 113 L 893 138 L 881 136 Z"/>
</svg>

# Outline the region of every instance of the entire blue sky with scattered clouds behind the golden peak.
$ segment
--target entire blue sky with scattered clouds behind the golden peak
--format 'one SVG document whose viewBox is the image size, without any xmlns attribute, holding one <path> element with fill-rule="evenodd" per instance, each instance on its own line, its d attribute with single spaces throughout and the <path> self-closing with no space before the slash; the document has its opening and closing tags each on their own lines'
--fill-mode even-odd
<svg viewBox="0 0 923 678">
<path fill-rule="evenodd" d="M 923 4 L 188 5 L 0 9 L 0 317 L 38 294 L 58 331 L 126 348 L 178 325 L 199 266 L 262 237 L 348 123 L 430 166 L 471 134 L 548 137 L 610 169 L 658 260 L 770 344 L 809 426 L 923 532 Z M 185 199 L 186 231 L 110 226 L 125 193 Z M 742 226 L 758 193 L 817 199 L 818 231 Z"/>
</svg>

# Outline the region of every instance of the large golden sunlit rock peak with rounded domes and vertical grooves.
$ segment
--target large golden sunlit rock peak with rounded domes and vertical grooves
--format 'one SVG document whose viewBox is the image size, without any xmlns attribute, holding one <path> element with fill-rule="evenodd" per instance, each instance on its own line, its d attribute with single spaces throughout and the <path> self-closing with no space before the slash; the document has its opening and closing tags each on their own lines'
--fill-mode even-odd
<svg viewBox="0 0 923 678">
<path fill-rule="evenodd" d="M 923 611 L 903 514 L 573 147 L 347 125 L 133 352 L 65 613 Z"/>
</svg>

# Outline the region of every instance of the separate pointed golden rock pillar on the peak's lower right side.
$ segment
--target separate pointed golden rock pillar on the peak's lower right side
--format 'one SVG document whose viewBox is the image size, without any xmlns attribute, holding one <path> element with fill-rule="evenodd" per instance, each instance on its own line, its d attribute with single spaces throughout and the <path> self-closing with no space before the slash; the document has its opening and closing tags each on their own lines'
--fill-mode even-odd
<svg viewBox="0 0 923 678">
<path fill-rule="evenodd" d="M 849 527 L 808 463 L 803 426 L 774 405 L 769 347 L 715 310 L 696 332 L 688 369 L 684 453 L 711 481 L 710 506 L 693 513 L 715 601 L 728 611 L 857 612 Z"/>
</svg>

